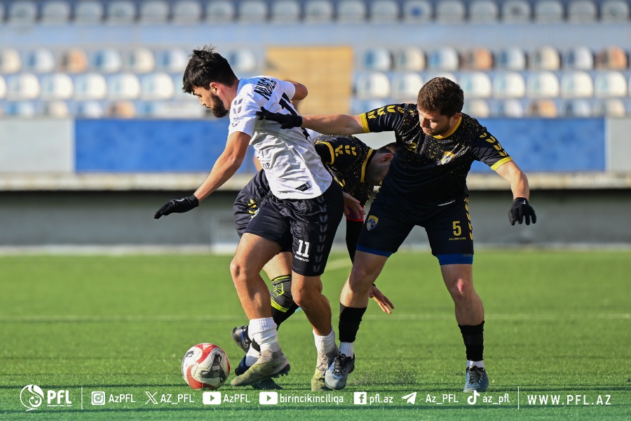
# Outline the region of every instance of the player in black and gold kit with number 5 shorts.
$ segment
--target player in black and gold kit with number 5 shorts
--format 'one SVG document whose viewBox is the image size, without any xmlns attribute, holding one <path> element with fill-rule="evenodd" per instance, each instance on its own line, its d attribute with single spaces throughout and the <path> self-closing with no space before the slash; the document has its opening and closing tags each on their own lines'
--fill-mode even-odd
<svg viewBox="0 0 631 421">
<path fill-rule="evenodd" d="M 367 215 L 353 269 L 341 293 L 339 354 L 325 375 L 332 389 L 343 389 L 355 367 L 353 343 L 367 307 L 369 286 L 415 225 L 426 229 L 454 300 L 467 356 L 464 392 L 484 392 L 489 387 L 482 357 L 484 307 L 473 288 L 473 229 L 466 185 L 471 163 L 482 161 L 509 182 L 512 225 L 534 223 L 536 215 L 528 203 L 526 175 L 487 128 L 462 113 L 462 107 L 460 86 L 437 77 L 421 87 L 416 104 L 386 105 L 359 116 L 257 113 L 277 121 L 281 128 L 302 126 L 344 135 L 395 132 L 397 153 Z"/>
</svg>

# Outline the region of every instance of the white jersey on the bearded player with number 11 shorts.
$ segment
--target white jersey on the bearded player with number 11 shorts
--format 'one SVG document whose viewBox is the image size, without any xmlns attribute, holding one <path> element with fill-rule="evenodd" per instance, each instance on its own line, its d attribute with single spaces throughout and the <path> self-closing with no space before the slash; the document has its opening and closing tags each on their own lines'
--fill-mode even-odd
<svg viewBox="0 0 631 421">
<path fill-rule="evenodd" d="M 261 108 L 297 114 L 290 99 L 296 90 L 289 82 L 269 76 L 240 79 L 230 108 L 228 133 L 252 136 L 250 145 L 266 173 L 269 188 L 278 199 L 313 199 L 323 194 L 332 178 L 313 142 L 301 128 L 280 128 L 275 121 L 259 120 Z"/>
</svg>

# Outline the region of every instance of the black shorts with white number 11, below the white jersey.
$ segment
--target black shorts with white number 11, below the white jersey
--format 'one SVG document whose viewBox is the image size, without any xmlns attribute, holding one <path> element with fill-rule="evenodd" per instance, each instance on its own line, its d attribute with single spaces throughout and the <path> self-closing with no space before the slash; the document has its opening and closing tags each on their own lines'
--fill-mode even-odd
<svg viewBox="0 0 631 421">
<path fill-rule="evenodd" d="M 323 274 L 344 198 L 337 182 L 315 199 L 278 199 L 270 195 L 259 206 L 244 232 L 262 236 L 292 250 L 292 270 L 304 276 Z"/>
</svg>

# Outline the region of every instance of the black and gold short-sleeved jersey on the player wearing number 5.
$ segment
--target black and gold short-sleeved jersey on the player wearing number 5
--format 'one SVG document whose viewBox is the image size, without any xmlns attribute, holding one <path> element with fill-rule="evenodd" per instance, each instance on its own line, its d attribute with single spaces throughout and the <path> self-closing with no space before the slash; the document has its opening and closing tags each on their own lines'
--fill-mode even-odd
<svg viewBox="0 0 631 421">
<path fill-rule="evenodd" d="M 495 170 L 510 156 L 487 128 L 467 114 L 452 133 L 423 133 L 415 104 L 393 104 L 361 114 L 365 133 L 395 132 L 397 153 L 380 194 L 408 203 L 433 206 L 462 199 L 473 161 Z"/>
</svg>

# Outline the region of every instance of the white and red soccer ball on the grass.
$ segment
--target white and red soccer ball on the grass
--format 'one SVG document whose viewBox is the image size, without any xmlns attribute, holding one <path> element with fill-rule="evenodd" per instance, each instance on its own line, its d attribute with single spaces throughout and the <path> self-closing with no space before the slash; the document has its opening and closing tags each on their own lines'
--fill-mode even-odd
<svg viewBox="0 0 631 421">
<path fill-rule="evenodd" d="M 182 377 L 193 389 L 218 389 L 229 374 L 228 356 L 214 344 L 197 344 L 182 359 Z"/>
</svg>

